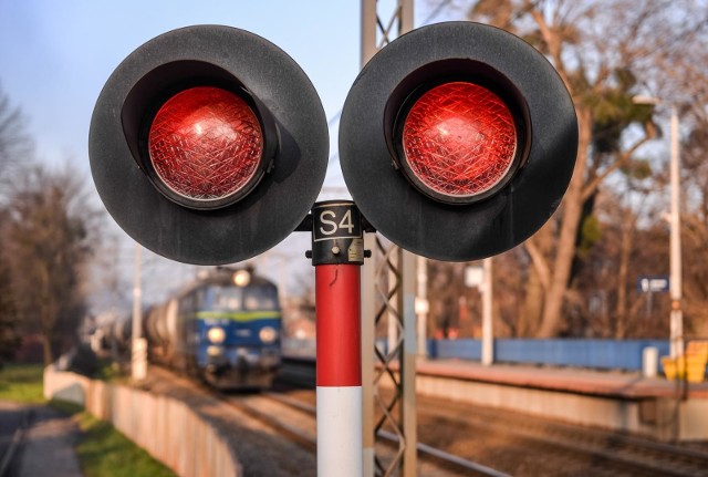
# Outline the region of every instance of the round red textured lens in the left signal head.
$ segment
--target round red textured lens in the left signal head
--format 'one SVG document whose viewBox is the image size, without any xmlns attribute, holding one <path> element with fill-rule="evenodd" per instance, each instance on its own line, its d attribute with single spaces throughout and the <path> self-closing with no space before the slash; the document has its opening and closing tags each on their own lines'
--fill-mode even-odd
<svg viewBox="0 0 708 477">
<path fill-rule="evenodd" d="M 148 154 L 177 196 L 212 201 L 248 193 L 260 180 L 263 133 L 238 95 L 199 86 L 170 97 L 149 129 Z"/>
</svg>

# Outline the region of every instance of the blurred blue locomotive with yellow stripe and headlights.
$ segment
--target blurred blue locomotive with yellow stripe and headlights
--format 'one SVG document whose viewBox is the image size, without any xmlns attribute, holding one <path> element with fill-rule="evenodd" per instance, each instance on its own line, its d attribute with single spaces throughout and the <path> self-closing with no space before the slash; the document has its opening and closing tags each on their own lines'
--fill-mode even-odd
<svg viewBox="0 0 708 477">
<path fill-rule="evenodd" d="M 278 288 L 252 269 L 217 268 L 145 320 L 150 360 L 220 390 L 270 387 L 281 330 Z"/>
</svg>

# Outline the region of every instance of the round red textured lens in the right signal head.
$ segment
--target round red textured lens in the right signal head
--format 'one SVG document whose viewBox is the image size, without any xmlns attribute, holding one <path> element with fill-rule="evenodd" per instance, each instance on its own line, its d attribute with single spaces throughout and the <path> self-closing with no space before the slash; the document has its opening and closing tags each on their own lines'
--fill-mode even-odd
<svg viewBox="0 0 708 477">
<path fill-rule="evenodd" d="M 496 93 L 472 83 L 433 87 L 403 124 L 403 168 L 424 194 L 471 203 L 506 184 L 517 154 L 517 126 Z"/>
</svg>

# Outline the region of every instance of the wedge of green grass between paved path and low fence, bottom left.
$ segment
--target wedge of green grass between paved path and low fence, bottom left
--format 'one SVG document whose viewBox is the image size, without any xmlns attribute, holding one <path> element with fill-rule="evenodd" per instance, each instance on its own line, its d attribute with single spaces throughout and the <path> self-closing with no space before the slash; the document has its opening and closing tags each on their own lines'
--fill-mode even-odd
<svg viewBox="0 0 708 477">
<path fill-rule="evenodd" d="M 61 401 L 53 401 L 52 406 L 72 414 L 79 423 L 82 436 L 75 449 L 85 477 L 175 475 L 111 424 L 96 419 L 80 406 Z"/>
</svg>

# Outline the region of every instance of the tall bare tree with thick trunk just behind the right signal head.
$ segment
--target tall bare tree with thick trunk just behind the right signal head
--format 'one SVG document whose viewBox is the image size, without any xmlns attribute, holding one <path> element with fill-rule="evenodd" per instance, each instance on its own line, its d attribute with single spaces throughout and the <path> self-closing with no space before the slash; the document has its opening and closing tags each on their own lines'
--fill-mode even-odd
<svg viewBox="0 0 708 477">
<path fill-rule="evenodd" d="M 521 35 L 554 64 L 575 103 L 579 153 L 554 218 L 525 245 L 540 284 L 537 336 L 566 326 L 563 309 L 586 221 L 602 185 L 656 136 L 650 107 L 634 104 L 647 87 L 667 84 L 667 65 L 705 33 L 699 0 L 480 0 L 470 18 Z M 702 72 L 705 85 L 705 71 Z M 704 86 L 705 87 L 705 86 Z M 670 92 L 658 92 L 673 100 Z"/>
</svg>

